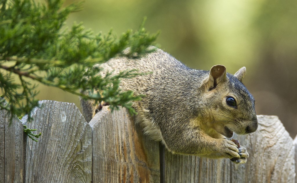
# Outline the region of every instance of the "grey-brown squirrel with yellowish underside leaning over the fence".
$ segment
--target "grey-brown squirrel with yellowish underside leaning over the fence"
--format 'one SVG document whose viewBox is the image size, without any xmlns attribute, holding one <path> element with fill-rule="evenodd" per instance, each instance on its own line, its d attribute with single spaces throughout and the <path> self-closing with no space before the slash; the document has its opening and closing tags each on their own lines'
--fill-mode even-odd
<svg viewBox="0 0 297 183">
<path fill-rule="evenodd" d="M 132 102 L 136 122 L 169 152 L 246 163 L 246 149 L 226 139 L 233 132 L 244 135 L 257 130 L 255 99 L 242 83 L 245 67 L 234 75 L 223 65 L 210 71 L 190 69 L 157 48 L 139 59 L 118 57 L 98 66 L 103 75 L 133 69 L 151 72 L 121 79 L 120 89 L 145 96 Z M 81 104 L 85 117 L 96 109 L 92 101 L 81 100 Z"/>
</svg>

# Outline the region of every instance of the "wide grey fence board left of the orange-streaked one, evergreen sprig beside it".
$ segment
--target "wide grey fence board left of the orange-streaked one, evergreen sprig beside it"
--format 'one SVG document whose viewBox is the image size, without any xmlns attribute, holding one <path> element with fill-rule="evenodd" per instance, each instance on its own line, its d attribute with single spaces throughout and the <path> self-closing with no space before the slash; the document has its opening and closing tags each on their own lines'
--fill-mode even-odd
<svg viewBox="0 0 297 183">
<path fill-rule="evenodd" d="M 43 100 L 40 106 L 27 124 L 42 135 L 38 142 L 27 138 L 26 182 L 91 182 L 89 124 L 73 103 Z"/>
</svg>

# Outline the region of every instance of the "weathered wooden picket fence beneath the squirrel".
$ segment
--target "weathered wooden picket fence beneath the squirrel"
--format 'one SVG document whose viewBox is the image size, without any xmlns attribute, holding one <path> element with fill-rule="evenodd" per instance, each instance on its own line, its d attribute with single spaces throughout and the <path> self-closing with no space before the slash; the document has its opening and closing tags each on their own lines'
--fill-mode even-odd
<svg viewBox="0 0 297 183">
<path fill-rule="evenodd" d="M 166 151 L 160 156 L 162 146 L 143 135 L 124 108 L 111 113 L 105 106 L 88 124 L 73 103 L 40 106 L 26 124 L 42 132 L 38 142 L 23 135 L 26 117 L 9 125 L 10 116 L 0 111 L 0 182 L 296 182 L 297 140 L 277 116 L 258 116 L 256 132 L 235 137 L 250 155 L 236 165 Z"/>
</svg>

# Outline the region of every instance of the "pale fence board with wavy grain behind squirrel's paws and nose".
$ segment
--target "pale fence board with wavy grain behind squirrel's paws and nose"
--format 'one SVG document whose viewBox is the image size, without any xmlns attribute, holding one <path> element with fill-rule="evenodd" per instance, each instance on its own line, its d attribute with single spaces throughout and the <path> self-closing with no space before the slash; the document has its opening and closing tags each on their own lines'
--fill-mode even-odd
<svg viewBox="0 0 297 183">
<path fill-rule="evenodd" d="M 247 147 L 246 164 L 232 165 L 232 181 L 295 182 L 293 139 L 277 116 L 257 116 L 258 130 L 235 137 Z"/>
</svg>

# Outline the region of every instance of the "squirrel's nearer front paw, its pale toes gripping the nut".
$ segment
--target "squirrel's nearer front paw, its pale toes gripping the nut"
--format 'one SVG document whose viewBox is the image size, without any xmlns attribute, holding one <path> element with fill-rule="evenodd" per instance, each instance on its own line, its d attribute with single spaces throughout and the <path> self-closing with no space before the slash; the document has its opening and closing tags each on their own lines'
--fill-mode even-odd
<svg viewBox="0 0 297 183">
<path fill-rule="evenodd" d="M 237 145 L 229 140 L 222 139 L 222 146 L 220 149 L 220 152 L 224 153 L 224 157 L 233 159 L 237 158 L 240 159 L 239 149 L 237 148 Z"/>
</svg>

